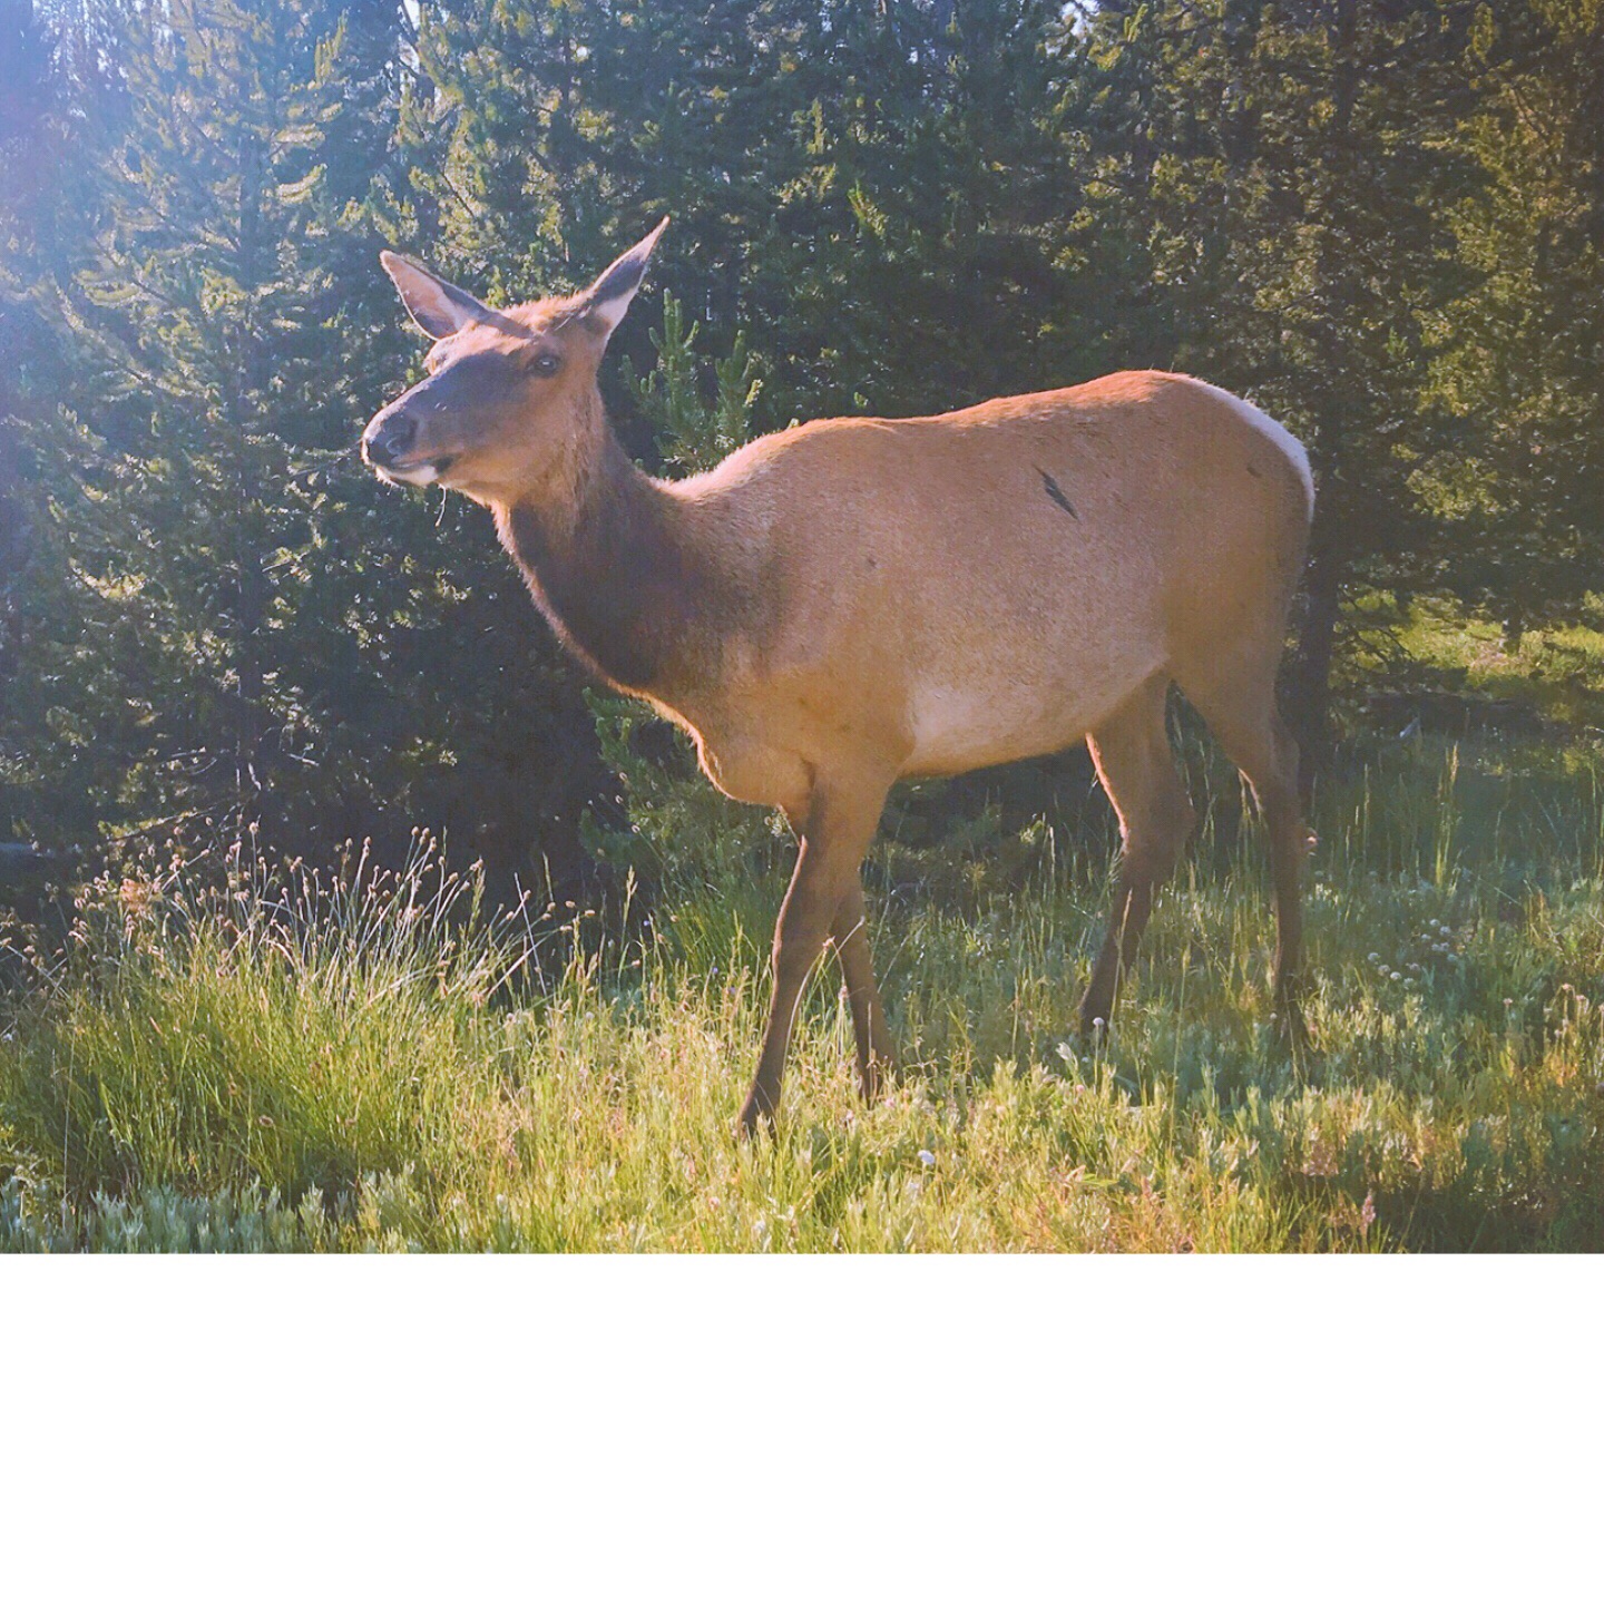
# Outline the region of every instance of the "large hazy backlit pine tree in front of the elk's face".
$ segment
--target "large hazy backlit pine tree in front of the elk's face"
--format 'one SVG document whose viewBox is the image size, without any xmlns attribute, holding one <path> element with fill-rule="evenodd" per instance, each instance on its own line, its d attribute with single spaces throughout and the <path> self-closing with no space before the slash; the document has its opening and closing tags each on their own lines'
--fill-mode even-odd
<svg viewBox="0 0 1604 1604">
<path fill-rule="evenodd" d="M 38 446 L 72 624 L 38 642 L 58 778 L 34 791 L 82 799 L 53 828 L 395 855 L 427 824 L 499 889 L 542 858 L 571 879 L 603 784 L 577 687 L 483 531 L 353 454 L 417 350 L 375 260 L 411 202 L 404 11 L 115 22 L 125 107 L 64 295 L 77 379 Z"/>
</svg>

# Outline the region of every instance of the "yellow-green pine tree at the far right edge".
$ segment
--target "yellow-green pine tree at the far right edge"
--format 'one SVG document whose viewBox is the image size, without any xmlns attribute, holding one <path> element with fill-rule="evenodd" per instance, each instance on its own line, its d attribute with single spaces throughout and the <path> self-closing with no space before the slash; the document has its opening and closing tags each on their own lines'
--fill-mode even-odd
<svg viewBox="0 0 1604 1604">
<path fill-rule="evenodd" d="M 1464 281 L 1428 332 L 1452 428 L 1416 488 L 1442 585 L 1517 638 L 1604 574 L 1604 5 L 1480 6 L 1466 67 L 1487 181 L 1450 213 Z"/>
</svg>

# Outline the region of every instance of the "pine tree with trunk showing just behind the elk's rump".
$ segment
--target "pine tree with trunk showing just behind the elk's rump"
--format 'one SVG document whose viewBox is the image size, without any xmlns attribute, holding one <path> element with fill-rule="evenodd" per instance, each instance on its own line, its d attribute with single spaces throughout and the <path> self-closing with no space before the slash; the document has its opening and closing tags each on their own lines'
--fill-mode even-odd
<svg viewBox="0 0 1604 1604">
<path fill-rule="evenodd" d="M 1206 0 L 1105 5 L 1088 34 L 1097 149 L 1168 303 L 1163 359 L 1310 448 L 1288 703 L 1314 759 L 1344 595 L 1418 589 L 1444 560 L 1412 473 L 1436 446 L 1423 326 L 1456 282 L 1445 218 L 1476 181 L 1455 144 L 1466 26 L 1450 0 Z"/>
</svg>

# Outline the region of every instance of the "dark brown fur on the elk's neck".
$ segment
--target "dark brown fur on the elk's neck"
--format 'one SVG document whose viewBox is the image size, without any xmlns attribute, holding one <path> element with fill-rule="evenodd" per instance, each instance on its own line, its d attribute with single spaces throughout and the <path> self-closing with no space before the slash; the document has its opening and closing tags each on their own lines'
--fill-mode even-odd
<svg viewBox="0 0 1604 1604">
<path fill-rule="evenodd" d="M 561 640 L 605 680 L 669 706 L 717 674 L 720 638 L 736 627 L 733 576 L 687 541 L 678 513 L 605 423 L 600 451 L 565 494 L 496 512 Z"/>
</svg>

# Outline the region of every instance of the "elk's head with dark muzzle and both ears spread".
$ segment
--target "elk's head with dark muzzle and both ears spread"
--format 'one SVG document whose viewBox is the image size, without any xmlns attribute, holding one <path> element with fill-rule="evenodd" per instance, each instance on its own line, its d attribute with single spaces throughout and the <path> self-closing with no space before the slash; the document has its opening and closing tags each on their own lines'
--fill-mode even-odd
<svg viewBox="0 0 1604 1604">
<path fill-rule="evenodd" d="M 484 504 L 508 505 L 553 480 L 573 481 L 603 433 L 597 366 L 667 223 L 587 290 L 505 311 L 380 252 L 435 348 L 428 377 L 363 430 L 363 459 L 391 484 L 441 484 Z"/>
</svg>

